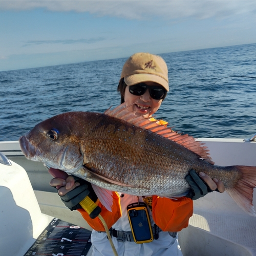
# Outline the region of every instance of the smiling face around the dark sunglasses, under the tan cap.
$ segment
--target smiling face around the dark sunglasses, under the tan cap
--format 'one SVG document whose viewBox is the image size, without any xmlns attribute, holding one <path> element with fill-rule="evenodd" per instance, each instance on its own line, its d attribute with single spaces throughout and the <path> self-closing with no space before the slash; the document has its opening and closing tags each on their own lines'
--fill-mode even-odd
<svg viewBox="0 0 256 256">
<path fill-rule="evenodd" d="M 148 86 L 159 86 L 160 84 L 156 82 L 144 82 Z M 162 99 L 157 100 L 153 99 L 150 96 L 150 92 L 148 89 L 146 92 L 140 96 L 133 95 L 129 92 L 129 86 L 126 86 L 124 92 L 124 101 L 127 102 L 129 105 L 135 103 L 134 105 L 130 106 L 129 111 L 137 111 L 136 113 L 144 114 L 143 117 L 147 118 L 153 115 L 159 108 L 162 103 Z"/>
</svg>

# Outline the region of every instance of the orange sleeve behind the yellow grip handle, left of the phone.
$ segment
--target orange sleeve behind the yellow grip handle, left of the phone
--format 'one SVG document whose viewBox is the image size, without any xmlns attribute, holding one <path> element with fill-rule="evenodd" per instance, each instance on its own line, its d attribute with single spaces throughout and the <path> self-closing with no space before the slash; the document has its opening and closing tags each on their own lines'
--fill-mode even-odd
<svg viewBox="0 0 256 256">
<path fill-rule="evenodd" d="M 112 212 L 107 210 L 100 202 L 99 200 L 96 201 L 96 204 L 101 208 L 100 215 L 106 222 L 106 225 L 110 229 L 114 223 L 121 217 L 122 211 L 120 206 L 120 198 L 117 195 L 117 193 L 112 192 L 113 195 L 113 205 L 112 205 Z M 98 217 L 95 219 L 91 219 L 88 215 L 88 213 L 84 209 L 77 209 L 80 214 L 82 215 L 83 219 L 87 221 L 87 223 L 97 231 L 105 231 L 101 221 Z"/>
</svg>

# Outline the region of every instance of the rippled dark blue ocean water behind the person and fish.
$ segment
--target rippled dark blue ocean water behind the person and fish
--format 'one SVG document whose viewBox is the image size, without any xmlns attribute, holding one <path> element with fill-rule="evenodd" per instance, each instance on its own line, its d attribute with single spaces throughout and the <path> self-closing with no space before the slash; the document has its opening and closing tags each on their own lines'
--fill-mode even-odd
<svg viewBox="0 0 256 256">
<path fill-rule="evenodd" d="M 224 78 L 256 77 L 256 44 L 159 55 L 168 66 L 170 92 L 156 118 L 196 138 L 256 133 L 256 79 Z M 125 60 L 0 72 L 0 141 L 18 140 L 63 112 L 114 108 Z"/>
</svg>

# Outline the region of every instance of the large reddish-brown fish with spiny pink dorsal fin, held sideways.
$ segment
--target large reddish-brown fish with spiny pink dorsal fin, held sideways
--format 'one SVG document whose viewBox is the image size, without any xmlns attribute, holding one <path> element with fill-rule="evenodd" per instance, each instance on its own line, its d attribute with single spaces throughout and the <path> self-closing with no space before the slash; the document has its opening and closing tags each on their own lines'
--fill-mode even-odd
<svg viewBox="0 0 256 256">
<path fill-rule="evenodd" d="M 194 169 L 221 180 L 238 205 L 256 216 L 256 167 L 213 165 L 207 148 L 193 137 L 137 116 L 128 107 L 124 103 L 104 114 L 54 116 L 22 136 L 20 147 L 31 160 L 91 182 L 99 199 L 98 187 L 137 196 L 179 197 L 190 189 L 185 177 Z"/>
</svg>

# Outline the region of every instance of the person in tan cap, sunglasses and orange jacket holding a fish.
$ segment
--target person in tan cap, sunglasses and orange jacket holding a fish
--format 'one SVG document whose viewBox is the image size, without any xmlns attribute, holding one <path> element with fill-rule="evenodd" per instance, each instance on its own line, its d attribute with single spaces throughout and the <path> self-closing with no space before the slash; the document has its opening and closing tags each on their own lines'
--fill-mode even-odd
<svg viewBox="0 0 256 256">
<path fill-rule="evenodd" d="M 124 63 L 118 91 L 121 103 L 125 102 L 129 112 L 150 118 L 158 126 L 167 125 L 167 122 L 152 117 L 169 91 L 168 71 L 163 58 L 150 53 L 132 55 Z M 58 172 L 52 168 L 51 171 L 55 174 Z M 220 193 L 225 190 L 222 181 L 211 179 L 203 172 L 197 175 L 194 170 L 190 170 L 186 181 L 191 189 L 177 198 L 133 196 L 113 191 L 111 209 L 101 203 L 104 196 L 99 191 L 96 195 L 92 185 L 85 180 L 74 176 L 55 178 L 50 185 L 58 189 L 63 203 L 71 210 L 78 210 L 93 228 L 92 255 L 113 255 L 113 251 L 101 222 L 98 218 L 91 219 L 79 205 L 88 195 L 101 208 L 101 216 L 111 231 L 119 256 L 169 256 L 182 255 L 177 232 L 188 226 L 193 214 L 193 200 L 213 190 Z"/>
</svg>

